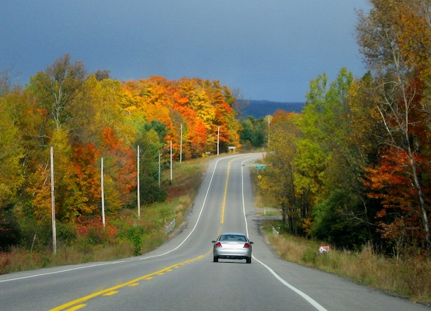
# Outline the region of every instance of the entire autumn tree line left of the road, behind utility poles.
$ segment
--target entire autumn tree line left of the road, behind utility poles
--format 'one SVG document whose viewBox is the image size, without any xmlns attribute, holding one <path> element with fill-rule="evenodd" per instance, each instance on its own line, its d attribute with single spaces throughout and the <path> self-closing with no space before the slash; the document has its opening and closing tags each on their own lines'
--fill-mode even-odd
<svg viewBox="0 0 431 311">
<path fill-rule="evenodd" d="M 54 151 L 59 224 L 100 217 L 100 159 L 107 215 L 141 202 L 164 201 L 160 166 L 240 146 L 235 97 L 219 81 L 152 76 L 121 82 L 109 71 L 88 73 L 63 55 L 25 87 L 0 78 L 0 247 L 32 244 L 51 217 L 50 147 Z M 91 222 L 90 222 L 91 223 Z M 61 235 L 61 233 L 60 233 Z"/>
</svg>

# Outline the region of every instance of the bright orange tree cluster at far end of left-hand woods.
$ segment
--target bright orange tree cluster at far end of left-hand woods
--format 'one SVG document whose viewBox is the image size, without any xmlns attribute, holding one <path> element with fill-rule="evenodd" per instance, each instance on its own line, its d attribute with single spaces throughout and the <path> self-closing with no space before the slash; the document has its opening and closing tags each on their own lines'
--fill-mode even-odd
<svg viewBox="0 0 431 311">
<path fill-rule="evenodd" d="M 168 81 L 153 76 L 123 84 L 123 109 L 133 115 L 137 123 L 158 120 L 167 127 L 165 151 L 172 147 L 175 157 L 180 149 L 180 127 L 183 126 L 183 153 L 198 157 L 203 152 L 214 152 L 220 126 L 222 150 L 227 145 L 239 147 L 240 125 L 232 108 L 235 100 L 226 86 L 218 81 L 182 78 Z"/>
</svg>

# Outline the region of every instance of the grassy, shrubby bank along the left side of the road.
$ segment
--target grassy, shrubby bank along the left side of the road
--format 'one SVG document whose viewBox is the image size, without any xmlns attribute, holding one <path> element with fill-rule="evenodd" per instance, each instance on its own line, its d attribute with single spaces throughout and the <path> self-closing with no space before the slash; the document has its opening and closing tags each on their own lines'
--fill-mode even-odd
<svg viewBox="0 0 431 311">
<path fill-rule="evenodd" d="M 205 173 L 205 157 L 175 163 L 172 172 L 165 172 L 162 187 L 167 191 L 163 203 L 141 206 L 141 217 L 137 210 L 124 209 L 114 218 L 107 217 L 104 228 L 98 219 L 93 219 L 85 227 L 85 233 L 73 233 L 76 237 L 65 245 L 57 240 L 57 254 L 50 245 L 30 251 L 13 247 L 8 252 L 0 252 L 0 274 L 22 270 L 34 270 L 50 266 L 71 265 L 94 261 L 111 261 L 137 256 L 162 245 L 185 221 L 200 182 Z M 167 224 L 175 219 L 173 231 L 165 233 Z"/>
</svg>

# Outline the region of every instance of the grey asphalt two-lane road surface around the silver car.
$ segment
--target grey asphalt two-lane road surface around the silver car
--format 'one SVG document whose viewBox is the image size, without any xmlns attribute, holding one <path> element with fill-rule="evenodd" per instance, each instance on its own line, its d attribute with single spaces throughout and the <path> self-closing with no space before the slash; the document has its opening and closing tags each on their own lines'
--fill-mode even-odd
<svg viewBox="0 0 431 311">
<path fill-rule="evenodd" d="M 430 310 L 280 260 L 254 213 L 249 171 L 261 156 L 212 161 L 185 228 L 151 253 L 0 275 L 0 310 Z M 251 264 L 212 262 L 211 241 L 222 231 L 247 233 Z"/>
</svg>

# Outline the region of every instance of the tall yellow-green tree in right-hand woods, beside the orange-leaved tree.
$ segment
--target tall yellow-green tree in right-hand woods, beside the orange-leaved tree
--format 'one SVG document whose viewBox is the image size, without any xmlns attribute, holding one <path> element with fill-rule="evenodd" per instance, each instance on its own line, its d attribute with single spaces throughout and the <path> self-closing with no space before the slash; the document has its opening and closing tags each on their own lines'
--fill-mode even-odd
<svg viewBox="0 0 431 311">
<path fill-rule="evenodd" d="M 346 68 L 329 86 L 326 75 L 320 75 L 310 83 L 308 101 L 298 123 L 303 136 L 295 159 L 296 185 L 315 206 L 313 233 L 322 238 L 320 232 L 324 232 L 328 240 L 336 240 L 353 224 L 371 238 L 370 212 L 361 182 L 367 154 L 364 141 L 355 138 L 355 112 L 350 106 L 352 85 L 353 75 Z M 339 204 L 340 198 L 348 203 Z M 334 226 L 329 221 L 334 221 Z M 331 228 L 334 230 L 328 231 Z M 350 242 L 365 243 L 363 230 L 352 231 L 357 236 L 351 236 Z"/>
</svg>

